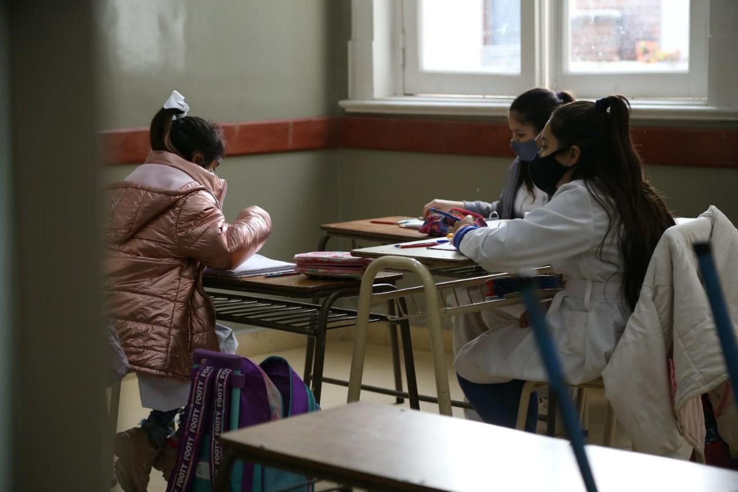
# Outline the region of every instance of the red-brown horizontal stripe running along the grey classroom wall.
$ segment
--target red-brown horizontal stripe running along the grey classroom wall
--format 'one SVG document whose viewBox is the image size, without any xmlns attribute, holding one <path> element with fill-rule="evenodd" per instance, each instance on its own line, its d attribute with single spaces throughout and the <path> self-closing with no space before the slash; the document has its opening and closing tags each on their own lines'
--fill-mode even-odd
<svg viewBox="0 0 738 492">
<path fill-rule="evenodd" d="M 512 157 L 504 122 L 390 117 L 320 117 L 224 123 L 229 156 L 323 148 L 357 148 L 466 156 Z M 738 167 L 738 131 L 635 127 L 646 164 Z M 103 131 L 109 164 L 143 162 L 148 130 Z"/>
</svg>

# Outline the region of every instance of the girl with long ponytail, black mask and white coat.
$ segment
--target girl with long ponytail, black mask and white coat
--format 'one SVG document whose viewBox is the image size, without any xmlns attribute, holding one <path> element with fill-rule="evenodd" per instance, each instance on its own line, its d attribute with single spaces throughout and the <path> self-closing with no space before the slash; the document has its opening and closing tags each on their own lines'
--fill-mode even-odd
<svg viewBox="0 0 738 492">
<path fill-rule="evenodd" d="M 465 218 L 454 244 L 489 271 L 551 265 L 564 274 L 546 320 L 566 381 L 582 384 L 607 364 L 674 218 L 646 181 L 625 97 L 562 105 L 537 140 L 528 171 L 551 201 L 494 229 Z M 458 353 L 458 379 L 483 420 L 514 427 L 524 381 L 546 380 L 537 344 L 525 316 L 506 325 L 499 316 L 480 319 L 487 330 Z M 534 431 L 536 415 L 533 398 L 527 430 Z"/>
</svg>

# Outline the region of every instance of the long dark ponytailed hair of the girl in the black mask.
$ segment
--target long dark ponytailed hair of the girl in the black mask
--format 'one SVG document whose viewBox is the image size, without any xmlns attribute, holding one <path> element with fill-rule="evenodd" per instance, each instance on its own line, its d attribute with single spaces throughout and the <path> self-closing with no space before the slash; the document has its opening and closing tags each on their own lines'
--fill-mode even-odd
<svg viewBox="0 0 738 492">
<path fill-rule="evenodd" d="M 571 179 L 583 179 L 607 211 L 610 225 L 599 252 L 608 235 L 618 236 L 624 260 L 623 294 L 633 309 L 656 243 L 674 225 L 674 217 L 644 176 L 630 139 L 630 103 L 619 95 L 597 103 L 569 103 L 554 111 L 549 125 L 559 148 L 579 147 Z"/>
</svg>

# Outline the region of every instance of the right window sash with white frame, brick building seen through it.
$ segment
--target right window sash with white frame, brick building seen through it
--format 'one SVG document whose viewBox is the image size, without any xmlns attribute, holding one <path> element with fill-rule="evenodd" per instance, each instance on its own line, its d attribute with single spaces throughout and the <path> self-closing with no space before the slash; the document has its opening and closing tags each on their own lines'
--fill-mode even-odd
<svg viewBox="0 0 738 492">
<path fill-rule="evenodd" d="M 568 0 L 559 8 L 556 86 L 588 96 L 707 96 L 707 1 Z"/>
</svg>

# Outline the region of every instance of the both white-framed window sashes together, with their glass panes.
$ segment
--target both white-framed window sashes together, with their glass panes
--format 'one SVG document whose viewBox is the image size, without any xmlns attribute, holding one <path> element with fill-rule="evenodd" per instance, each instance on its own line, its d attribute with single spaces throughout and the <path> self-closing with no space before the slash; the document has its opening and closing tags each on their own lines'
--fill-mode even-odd
<svg viewBox="0 0 738 492">
<path fill-rule="evenodd" d="M 404 94 L 513 96 L 548 80 L 589 96 L 706 96 L 705 1 L 403 4 Z"/>
</svg>

